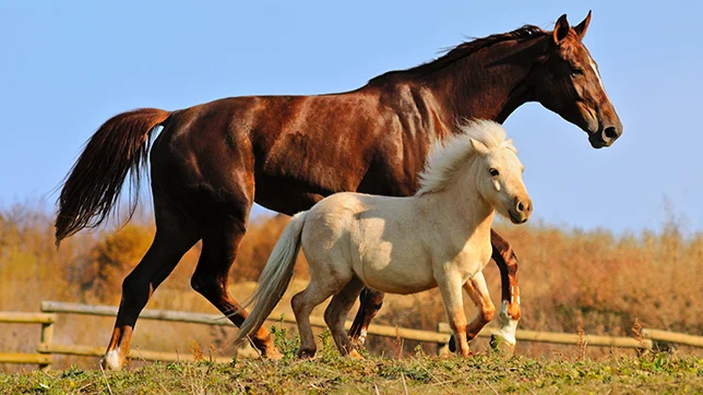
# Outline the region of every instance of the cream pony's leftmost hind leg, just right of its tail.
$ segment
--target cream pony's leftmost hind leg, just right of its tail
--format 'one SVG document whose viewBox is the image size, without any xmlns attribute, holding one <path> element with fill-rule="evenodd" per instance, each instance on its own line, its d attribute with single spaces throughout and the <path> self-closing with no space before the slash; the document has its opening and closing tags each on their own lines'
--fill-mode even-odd
<svg viewBox="0 0 703 395">
<path fill-rule="evenodd" d="M 300 335 L 298 357 L 314 357 L 318 346 L 314 344 L 314 335 L 312 334 L 312 326 L 310 325 L 310 313 L 312 313 L 312 309 L 334 295 L 339 288 L 342 287 L 331 287 L 330 284 L 320 284 L 320 282 L 313 279 L 306 289 L 296 294 L 290 299 L 290 306 L 296 315 L 296 323 L 298 323 L 298 334 Z"/>
</svg>

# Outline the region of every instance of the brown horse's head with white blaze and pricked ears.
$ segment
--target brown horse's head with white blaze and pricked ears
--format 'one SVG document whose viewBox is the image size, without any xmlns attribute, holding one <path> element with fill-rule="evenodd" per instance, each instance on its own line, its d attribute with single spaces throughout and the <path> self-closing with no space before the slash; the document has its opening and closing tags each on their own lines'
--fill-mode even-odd
<svg viewBox="0 0 703 395">
<path fill-rule="evenodd" d="M 620 136 L 622 124 L 603 86 L 598 65 L 582 43 L 589 22 L 591 12 L 573 27 L 567 15 L 561 15 L 545 38 L 545 60 L 531 74 L 536 99 L 588 133 L 594 148 L 601 148 Z"/>
</svg>

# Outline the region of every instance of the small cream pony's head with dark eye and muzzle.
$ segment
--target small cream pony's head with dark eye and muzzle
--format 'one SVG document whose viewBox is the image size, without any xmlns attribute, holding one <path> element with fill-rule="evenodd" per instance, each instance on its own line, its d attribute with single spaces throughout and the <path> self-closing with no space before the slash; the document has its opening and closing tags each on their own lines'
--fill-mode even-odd
<svg viewBox="0 0 703 395">
<path fill-rule="evenodd" d="M 488 147 L 478 140 L 470 140 L 482 160 L 476 160 L 479 194 L 502 216 L 513 224 L 523 224 L 532 214 L 532 201 L 523 183 L 523 164 L 512 140 L 498 147 Z"/>
</svg>

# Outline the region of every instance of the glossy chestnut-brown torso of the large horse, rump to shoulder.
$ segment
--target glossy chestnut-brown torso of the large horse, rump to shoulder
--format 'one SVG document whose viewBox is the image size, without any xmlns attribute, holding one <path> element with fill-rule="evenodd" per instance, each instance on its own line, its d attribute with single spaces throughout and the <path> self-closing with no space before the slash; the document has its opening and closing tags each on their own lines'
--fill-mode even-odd
<svg viewBox="0 0 703 395">
<path fill-rule="evenodd" d="M 395 96 L 404 99 L 389 99 Z M 398 100 L 405 112 L 386 104 Z M 341 191 L 408 195 L 434 139 L 421 131 L 416 101 L 402 89 L 368 88 L 229 97 L 177 110 L 152 149 L 152 179 L 170 195 L 190 190 L 223 207 L 257 202 L 285 214 Z"/>
</svg>

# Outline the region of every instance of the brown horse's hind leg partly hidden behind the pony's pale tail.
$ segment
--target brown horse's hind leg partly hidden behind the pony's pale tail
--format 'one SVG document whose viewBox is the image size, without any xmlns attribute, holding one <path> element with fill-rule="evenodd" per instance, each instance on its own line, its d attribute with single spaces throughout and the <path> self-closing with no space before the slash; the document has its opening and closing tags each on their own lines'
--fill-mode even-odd
<svg viewBox="0 0 703 395">
<path fill-rule="evenodd" d="M 223 214 L 219 223 L 211 220 L 203 235 L 203 250 L 198 267 L 191 278 L 191 286 L 235 325 L 240 326 L 249 313 L 242 309 L 227 290 L 229 267 L 237 256 L 237 249 L 245 236 L 247 220 Z M 252 336 L 251 343 L 264 358 L 279 359 L 273 336 L 262 325 Z"/>
</svg>

